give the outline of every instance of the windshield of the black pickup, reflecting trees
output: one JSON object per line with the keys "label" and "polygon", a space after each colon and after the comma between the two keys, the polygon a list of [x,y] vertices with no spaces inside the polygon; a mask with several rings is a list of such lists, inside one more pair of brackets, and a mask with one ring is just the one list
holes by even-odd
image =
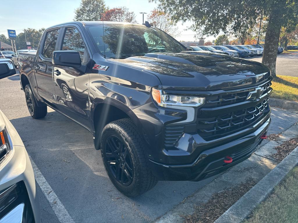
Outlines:
{"label": "windshield of the black pickup, reflecting trees", "polygon": [[[177,40],[154,27],[138,25],[87,25],[98,51],[109,58],[123,59],[147,53],[186,51]],[[103,34],[104,33],[104,34]]]}

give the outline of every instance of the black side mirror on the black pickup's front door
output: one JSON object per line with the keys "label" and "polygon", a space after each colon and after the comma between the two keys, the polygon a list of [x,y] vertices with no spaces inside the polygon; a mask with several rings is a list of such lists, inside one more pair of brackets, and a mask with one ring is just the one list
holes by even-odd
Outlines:
{"label": "black side mirror on the black pickup's front door", "polygon": [[52,56],[52,64],[66,67],[80,67],[81,57],[79,52],[74,50],[54,51]]}

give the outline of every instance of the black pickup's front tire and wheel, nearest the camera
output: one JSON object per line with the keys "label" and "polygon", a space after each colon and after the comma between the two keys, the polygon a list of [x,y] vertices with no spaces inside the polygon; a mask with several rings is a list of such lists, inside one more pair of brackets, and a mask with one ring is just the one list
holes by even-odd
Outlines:
{"label": "black pickup's front tire and wheel, nearest the camera", "polygon": [[100,146],[105,170],[122,194],[136,197],[158,182],[151,173],[145,143],[130,118],[108,123]]}

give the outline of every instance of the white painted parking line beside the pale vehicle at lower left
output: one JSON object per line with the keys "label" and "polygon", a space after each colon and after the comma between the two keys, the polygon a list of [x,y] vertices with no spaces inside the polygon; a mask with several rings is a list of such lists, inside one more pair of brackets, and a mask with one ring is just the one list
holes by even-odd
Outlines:
{"label": "white painted parking line beside the pale vehicle at lower left", "polygon": [[38,186],[40,187],[41,191],[43,192],[46,199],[49,201],[55,215],[57,216],[58,220],[61,223],[75,223],[75,221],[72,219],[72,217],[69,215],[68,211],[62,204],[62,202],[59,200],[55,192],[53,191],[52,187],[49,185],[49,183],[46,181],[46,178],[44,178],[44,175],[40,172],[38,167],[36,166],[33,159],[29,156],[31,160],[31,164],[33,167],[35,180],[38,183]]}

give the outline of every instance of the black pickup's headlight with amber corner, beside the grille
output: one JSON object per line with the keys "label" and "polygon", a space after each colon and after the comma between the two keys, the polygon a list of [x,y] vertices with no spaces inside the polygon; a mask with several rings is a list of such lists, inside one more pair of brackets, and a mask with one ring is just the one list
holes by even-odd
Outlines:
{"label": "black pickup's headlight with amber corner, beside the grille", "polygon": [[167,95],[161,89],[152,88],[151,95],[153,100],[162,107],[181,106],[198,107],[204,104],[205,98],[193,96]]}

